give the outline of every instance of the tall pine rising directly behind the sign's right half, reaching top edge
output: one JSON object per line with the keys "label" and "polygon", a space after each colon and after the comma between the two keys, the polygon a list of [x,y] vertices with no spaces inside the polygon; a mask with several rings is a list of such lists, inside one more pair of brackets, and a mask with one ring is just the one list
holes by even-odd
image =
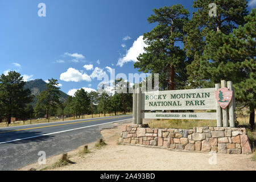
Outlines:
{"label": "tall pine rising directly behind the sign's right half, reaching top edge", "polygon": [[[217,5],[217,16],[209,16],[209,4]],[[184,26],[187,31],[184,49],[188,59],[187,66],[190,88],[214,86],[214,82],[225,79],[225,75],[216,75],[212,67],[220,65],[223,60],[216,57],[217,48],[222,46],[220,35],[228,35],[233,28],[243,25],[247,15],[246,0],[196,0],[193,7],[197,9],[192,19]],[[222,34],[220,34],[222,33]],[[212,60],[216,61],[212,63]],[[216,77],[217,76],[217,77]],[[209,82],[210,81],[210,82]]]}

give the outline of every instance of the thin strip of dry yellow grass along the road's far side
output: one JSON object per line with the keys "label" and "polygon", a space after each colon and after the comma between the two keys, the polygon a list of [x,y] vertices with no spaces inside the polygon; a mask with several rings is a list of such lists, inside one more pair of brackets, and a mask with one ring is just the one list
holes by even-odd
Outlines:
{"label": "thin strip of dry yellow grass along the road's far side", "polygon": [[[131,114],[131,113],[126,113],[126,114]],[[114,115],[115,115],[114,113],[106,114],[106,117],[114,116]],[[118,115],[123,115],[123,113],[120,113]],[[92,117],[92,114],[84,115],[84,116],[85,116],[84,119],[99,118],[98,114],[93,114],[93,117]],[[104,117],[104,114],[100,114],[100,117]],[[64,118],[64,121],[70,121],[70,120],[73,120],[73,119],[74,119],[73,117]],[[82,119],[82,118],[81,117],[80,118],[75,117],[75,120],[78,120],[78,119]],[[63,119],[62,118],[57,119],[57,118],[54,118],[54,117],[50,118],[50,122],[58,122],[58,121],[63,121]],[[48,123],[48,119],[46,119],[46,118],[32,119],[32,121],[31,121],[31,125],[40,124],[40,123]],[[11,127],[11,126],[22,126],[22,125],[30,125],[30,120],[27,120],[24,123],[23,123],[23,121],[11,122],[9,127]],[[1,122],[0,127],[7,127],[6,122]]]}

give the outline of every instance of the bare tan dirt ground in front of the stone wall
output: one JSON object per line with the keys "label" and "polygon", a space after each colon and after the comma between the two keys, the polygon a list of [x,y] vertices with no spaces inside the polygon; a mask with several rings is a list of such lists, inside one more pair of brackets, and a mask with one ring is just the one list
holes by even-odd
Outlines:
{"label": "bare tan dirt ground in front of the stone wall", "polygon": [[[122,126],[102,130],[107,145],[97,149],[89,143],[91,151],[79,155],[82,147],[68,152],[69,160],[75,164],[48,170],[256,170],[252,155],[245,154],[209,154],[208,152],[171,151],[162,148],[150,148],[118,144]],[[60,155],[47,159],[46,165],[31,164],[18,170],[37,170],[51,166],[60,159]],[[216,160],[215,160],[216,159]],[[210,163],[209,163],[210,162]]]}

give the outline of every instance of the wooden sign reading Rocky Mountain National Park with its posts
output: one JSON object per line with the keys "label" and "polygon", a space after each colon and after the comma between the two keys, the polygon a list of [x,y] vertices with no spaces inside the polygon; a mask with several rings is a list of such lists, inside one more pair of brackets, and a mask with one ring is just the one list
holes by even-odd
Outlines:
{"label": "wooden sign reading Rocky Mountain National Park with its posts", "polygon": [[[168,90],[133,93],[133,123],[142,124],[142,119],[216,119],[217,127],[235,127],[236,115],[232,82],[221,80],[215,88]],[[151,110],[216,110],[216,113],[151,113]],[[229,110],[229,111],[228,111]],[[229,113],[229,114],[228,114]],[[223,123],[223,124],[222,124]]]}

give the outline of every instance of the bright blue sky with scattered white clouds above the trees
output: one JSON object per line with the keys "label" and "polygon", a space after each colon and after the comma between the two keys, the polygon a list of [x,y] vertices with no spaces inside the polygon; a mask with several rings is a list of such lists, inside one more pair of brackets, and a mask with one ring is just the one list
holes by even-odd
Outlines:
{"label": "bright blue sky with scattered white clouds above the trees", "polygon": [[[46,16],[38,16],[45,3]],[[56,78],[63,92],[97,89],[102,79],[138,73],[135,57],[152,9],[192,1],[23,0],[0,1],[0,73],[20,72],[25,80]],[[255,7],[255,0],[251,1]]]}

